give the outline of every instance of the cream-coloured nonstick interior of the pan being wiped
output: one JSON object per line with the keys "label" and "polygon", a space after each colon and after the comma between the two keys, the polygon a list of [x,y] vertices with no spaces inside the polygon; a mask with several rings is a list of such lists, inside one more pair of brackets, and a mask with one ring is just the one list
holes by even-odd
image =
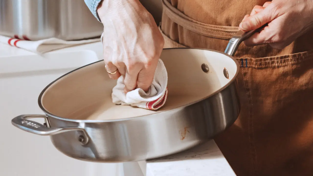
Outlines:
{"label": "cream-coloured nonstick interior of the pan being wiped", "polygon": [[[165,49],[161,59],[168,72],[168,97],[157,111],[112,103],[111,80],[103,61],[85,66],[52,83],[41,97],[43,108],[54,116],[80,120],[114,120],[167,111],[202,100],[221,90],[236,75],[238,66],[225,54],[204,49]],[[201,65],[208,65],[203,71]],[[224,75],[228,71],[228,78]]]}

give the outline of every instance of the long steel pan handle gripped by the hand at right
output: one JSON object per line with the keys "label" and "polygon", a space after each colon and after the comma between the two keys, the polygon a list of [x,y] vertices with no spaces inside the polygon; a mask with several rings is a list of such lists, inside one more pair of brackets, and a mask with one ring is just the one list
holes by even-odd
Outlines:
{"label": "long steel pan handle gripped by the hand at right", "polygon": [[238,31],[233,37],[229,40],[228,45],[224,51],[224,53],[234,56],[236,53],[236,50],[238,49],[241,42],[243,42],[245,39],[248,39],[251,37],[255,32],[260,31],[263,29],[267,24],[264,24],[258,29],[254,29],[248,32]]}

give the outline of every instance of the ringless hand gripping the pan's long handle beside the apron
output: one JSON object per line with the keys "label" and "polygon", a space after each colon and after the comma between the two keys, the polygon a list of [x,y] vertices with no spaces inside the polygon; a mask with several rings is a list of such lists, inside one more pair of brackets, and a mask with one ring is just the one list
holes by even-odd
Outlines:
{"label": "ringless hand gripping the pan's long handle beside the apron", "polygon": [[283,49],[313,28],[313,0],[273,0],[255,6],[239,29],[246,32],[268,25],[244,41],[247,46],[270,44]]}

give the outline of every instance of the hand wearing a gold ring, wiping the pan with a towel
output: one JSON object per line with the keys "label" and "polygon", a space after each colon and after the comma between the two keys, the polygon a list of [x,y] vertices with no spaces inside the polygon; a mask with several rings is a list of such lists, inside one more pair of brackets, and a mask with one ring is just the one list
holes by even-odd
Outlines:
{"label": "hand wearing a gold ring, wiping the pan with a towel", "polygon": [[104,26],[103,54],[110,78],[124,76],[125,92],[148,91],[164,39],[139,0],[104,0],[98,7]]}

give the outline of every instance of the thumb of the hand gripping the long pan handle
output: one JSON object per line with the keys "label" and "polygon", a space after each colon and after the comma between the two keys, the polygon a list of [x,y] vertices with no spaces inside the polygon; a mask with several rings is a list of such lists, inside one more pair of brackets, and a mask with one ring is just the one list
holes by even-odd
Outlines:
{"label": "thumb of the hand gripping the long pan handle", "polygon": [[239,29],[246,32],[262,27],[264,24],[272,21],[272,14],[268,9],[264,9],[260,13],[249,16],[239,24]]}

